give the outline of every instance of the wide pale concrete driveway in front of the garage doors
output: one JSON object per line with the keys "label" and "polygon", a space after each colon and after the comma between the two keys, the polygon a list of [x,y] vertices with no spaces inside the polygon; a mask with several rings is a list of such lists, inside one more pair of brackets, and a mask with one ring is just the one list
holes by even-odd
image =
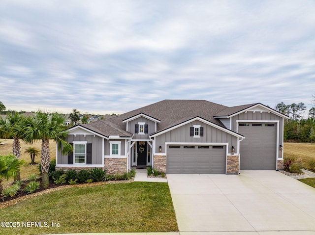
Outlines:
{"label": "wide pale concrete driveway in front of the garage doors", "polygon": [[315,188],[280,172],[167,179],[181,235],[315,234]]}

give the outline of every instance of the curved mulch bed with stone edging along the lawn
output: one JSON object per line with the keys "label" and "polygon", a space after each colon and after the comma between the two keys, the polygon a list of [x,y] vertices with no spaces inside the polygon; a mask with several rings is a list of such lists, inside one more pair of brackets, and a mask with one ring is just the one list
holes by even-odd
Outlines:
{"label": "curved mulch bed with stone edging along the lawn", "polygon": [[53,182],[49,182],[49,187],[42,189],[39,188],[37,189],[34,193],[32,194],[27,194],[24,191],[19,191],[14,197],[5,197],[3,198],[4,201],[0,202],[0,209],[5,208],[5,207],[9,207],[12,205],[16,205],[21,201],[24,201],[26,199],[29,198],[33,198],[39,195],[43,195],[46,193],[50,193],[50,192],[54,192],[54,191],[59,191],[65,188],[70,188],[70,187],[91,187],[91,186],[96,186],[96,185],[101,185],[101,184],[111,184],[111,183],[132,183],[134,180],[134,177],[130,180],[126,180],[126,181],[101,181],[101,182],[95,182],[95,183],[80,183],[80,184],[74,184],[74,185],[70,185],[70,184],[55,184]]}

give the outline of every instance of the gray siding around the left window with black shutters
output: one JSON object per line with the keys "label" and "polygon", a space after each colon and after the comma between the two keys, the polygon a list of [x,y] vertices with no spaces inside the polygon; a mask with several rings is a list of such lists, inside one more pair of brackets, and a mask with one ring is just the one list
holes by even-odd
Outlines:
{"label": "gray siding around the left window with black shutters", "polygon": [[[82,134],[77,134],[76,137],[73,134],[69,134],[67,136],[67,140],[68,143],[72,143],[72,141],[88,141],[88,143],[92,143],[92,164],[94,165],[101,165],[103,160],[103,156],[102,156],[102,138],[98,137],[98,136],[93,136],[93,135],[86,135],[86,137],[84,137],[84,135]],[[57,164],[68,164],[68,156],[66,155],[62,155],[60,151],[58,151],[58,162]]]}

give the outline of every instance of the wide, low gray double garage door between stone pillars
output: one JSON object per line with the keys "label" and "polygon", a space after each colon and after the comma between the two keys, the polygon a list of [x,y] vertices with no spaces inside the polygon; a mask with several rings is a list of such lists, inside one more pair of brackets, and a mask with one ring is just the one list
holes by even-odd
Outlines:
{"label": "wide, low gray double garage door between stone pillars", "polygon": [[168,145],[167,174],[225,174],[225,145]]}

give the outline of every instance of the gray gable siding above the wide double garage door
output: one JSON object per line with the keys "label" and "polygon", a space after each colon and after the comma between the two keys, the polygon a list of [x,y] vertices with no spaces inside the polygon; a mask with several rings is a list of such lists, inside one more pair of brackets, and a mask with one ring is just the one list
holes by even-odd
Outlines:
{"label": "gray gable siding above the wide double garage door", "polygon": [[[203,127],[203,136],[200,138],[194,138],[190,136],[190,127],[193,125],[200,125]],[[184,126],[178,127],[172,131],[168,131],[156,138],[156,153],[158,153],[158,147],[162,146],[162,153],[165,153],[165,142],[178,142],[178,143],[229,143],[230,146],[235,147],[237,152],[237,137],[227,132],[221,131],[215,127],[207,125],[201,121],[194,121]]]}

